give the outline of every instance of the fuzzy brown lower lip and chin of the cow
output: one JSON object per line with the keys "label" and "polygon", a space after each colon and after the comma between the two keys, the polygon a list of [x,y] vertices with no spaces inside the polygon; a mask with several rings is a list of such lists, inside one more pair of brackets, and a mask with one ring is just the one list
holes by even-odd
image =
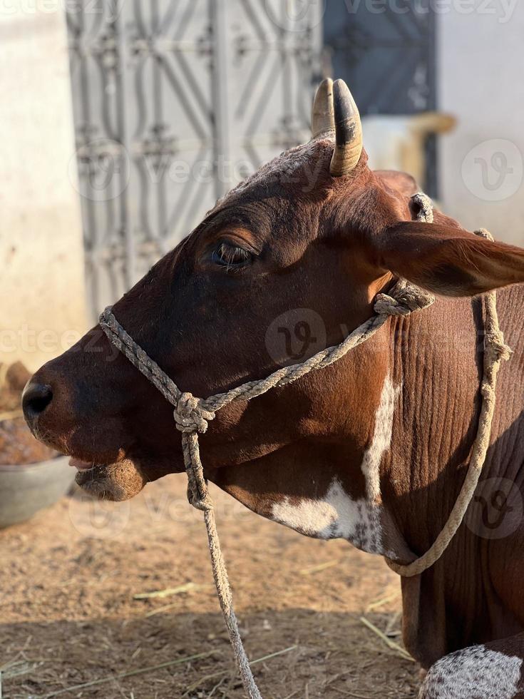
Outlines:
{"label": "fuzzy brown lower lip and chin of the cow", "polygon": [[76,484],[101,500],[129,500],[147,482],[140,466],[131,459],[116,461],[114,464],[97,464],[72,457],[69,464],[78,471]]}

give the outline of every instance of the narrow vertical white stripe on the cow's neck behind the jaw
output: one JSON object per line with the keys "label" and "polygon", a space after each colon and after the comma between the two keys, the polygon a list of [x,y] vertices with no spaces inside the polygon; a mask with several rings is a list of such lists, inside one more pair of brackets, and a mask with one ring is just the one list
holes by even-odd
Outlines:
{"label": "narrow vertical white stripe on the cow's neck behind the jaw", "polygon": [[386,379],[384,379],[379,407],[375,414],[373,439],[364,453],[364,459],[362,459],[361,469],[366,479],[367,496],[369,501],[376,505],[380,505],[382,501],[380,492],[380,464],[382,462],[382,457],[391,446],[395,403],[400,389],[401,386],[394,387],[388,374]]}

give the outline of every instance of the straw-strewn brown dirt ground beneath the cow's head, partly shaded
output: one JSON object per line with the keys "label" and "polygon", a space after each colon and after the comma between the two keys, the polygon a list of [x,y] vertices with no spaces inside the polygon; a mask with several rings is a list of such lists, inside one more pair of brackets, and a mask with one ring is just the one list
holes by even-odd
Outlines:
{"label": "straw-strewn brown dirt ground beneath the cow's head, partly shaded", "polygon": [[[399,582],[383,561],[212,496],[264,699],[416,697],[416,663],[361,621],[401,643]],[[128,503],[76,491],[0,531],[0,551],[4,699],[244,696],[184,476]]]}

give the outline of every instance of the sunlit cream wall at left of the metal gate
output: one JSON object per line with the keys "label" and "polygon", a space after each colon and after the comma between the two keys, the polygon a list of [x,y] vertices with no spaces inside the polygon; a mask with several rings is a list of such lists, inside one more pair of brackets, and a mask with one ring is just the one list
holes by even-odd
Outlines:
{"label": "sunlit cream wall at left of the metal gate", "polygon": [[61,3],[0,10],[0,362],[36,369],[86,329]]}

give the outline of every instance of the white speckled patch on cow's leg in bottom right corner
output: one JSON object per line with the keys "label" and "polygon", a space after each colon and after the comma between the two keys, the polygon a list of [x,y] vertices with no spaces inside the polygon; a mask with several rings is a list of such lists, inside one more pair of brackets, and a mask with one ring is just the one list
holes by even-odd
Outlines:
{"label": "white speckled patch on cow's leg in bottom right corner", "polygon": [[522,664],[522,658],[486,646],[457,650],[431,666],[419,699],[513,699]]}

